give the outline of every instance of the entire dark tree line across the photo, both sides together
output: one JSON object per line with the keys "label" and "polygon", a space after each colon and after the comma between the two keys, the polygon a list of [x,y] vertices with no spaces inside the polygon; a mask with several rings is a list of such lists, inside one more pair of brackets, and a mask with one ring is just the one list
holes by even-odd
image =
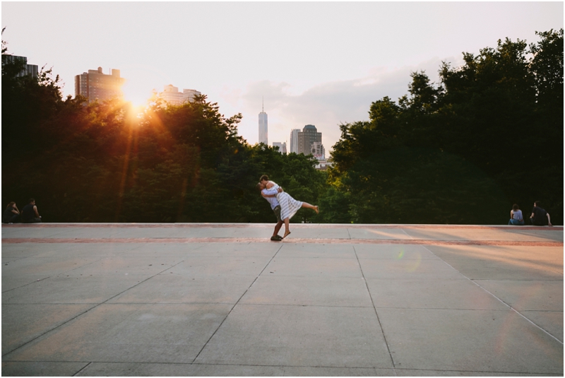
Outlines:
{"label": "entire dark tree line across the photo, both sides together", "polygon": [[144,110],[114,99],[63,98],[42,69],[18,76],[2,42],[2,200],[34,197],[47,222],[274,222],[255,189],[269,175],[318,204],[292,221],[506,224],[513,203],[541,200],[562,224],[563,30],[504,40],[412,73],[408,95],[341,124],[334,166],[250,145],[242,115],[206,95]]}

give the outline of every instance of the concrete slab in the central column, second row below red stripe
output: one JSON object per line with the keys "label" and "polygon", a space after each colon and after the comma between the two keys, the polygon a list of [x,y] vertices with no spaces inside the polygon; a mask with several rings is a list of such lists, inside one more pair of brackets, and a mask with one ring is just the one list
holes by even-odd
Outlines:
{"label": "concrete slab in the central column, second row below red stripe", "polygon": [[275,257],[273,261],[270,261],[263,274],[297,277],[362,277],[356,259],[315,257]]}

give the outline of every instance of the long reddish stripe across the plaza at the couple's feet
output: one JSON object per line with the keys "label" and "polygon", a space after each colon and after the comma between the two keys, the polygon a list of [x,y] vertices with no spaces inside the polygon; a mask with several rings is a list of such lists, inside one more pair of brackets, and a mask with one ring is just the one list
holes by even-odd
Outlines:
{"label": "long reddish stripe across the plaza at the couple's feet", "polygon": [[[2,244],[18,243],[263,243],[268,239],[254,237],[187,237],[187,238],[56,238],[56,237],[10,237]],[[317,244],[429,244],[429,245],[507,245],[535,247],[563,247],[563,242],[533,242],[513,240],[398,240],[398,239],[287,239],[283,243]]]}

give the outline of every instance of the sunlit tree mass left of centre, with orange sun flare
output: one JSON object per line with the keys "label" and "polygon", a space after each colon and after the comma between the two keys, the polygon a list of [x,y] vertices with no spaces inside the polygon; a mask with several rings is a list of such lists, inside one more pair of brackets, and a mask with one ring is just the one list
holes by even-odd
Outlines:
{"label": "sunlit tree mass left of centre, with orange sun flare", "polygon": [[[3,45],[2,54],[7,54]],[[2,64],[2,201],[30,197],[47,222],[268,222],[255,189],[268,174],[295,198],[315,202],[326,176],[311,157],[283,155],[237,136],[241,115],[223,117],[197,97],[145,110],[110,100],[61,98],[59,78],[18,77]],[[299,211],[294,222],[314,212]]]}

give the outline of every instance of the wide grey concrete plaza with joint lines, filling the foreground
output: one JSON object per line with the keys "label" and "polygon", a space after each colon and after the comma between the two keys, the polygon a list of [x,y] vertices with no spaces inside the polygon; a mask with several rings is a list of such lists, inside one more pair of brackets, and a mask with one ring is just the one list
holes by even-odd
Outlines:
{"label": "wide grey concrete plaza with joint lines, filling the foreground", "polygon": [[564,374],[563,228],[2,225],[4,376]]}

